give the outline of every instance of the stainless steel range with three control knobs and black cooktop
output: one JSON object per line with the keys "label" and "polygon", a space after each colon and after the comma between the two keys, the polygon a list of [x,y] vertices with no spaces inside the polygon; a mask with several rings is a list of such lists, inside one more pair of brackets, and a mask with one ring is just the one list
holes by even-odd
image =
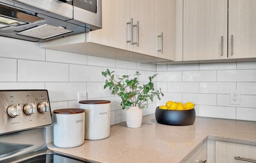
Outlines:
{"label": "stainless steel range with three control knobs and black cooktop", "polygon": [[89,163],[47,148],[52,123],[47,90],[1,90],[0,163]]}

